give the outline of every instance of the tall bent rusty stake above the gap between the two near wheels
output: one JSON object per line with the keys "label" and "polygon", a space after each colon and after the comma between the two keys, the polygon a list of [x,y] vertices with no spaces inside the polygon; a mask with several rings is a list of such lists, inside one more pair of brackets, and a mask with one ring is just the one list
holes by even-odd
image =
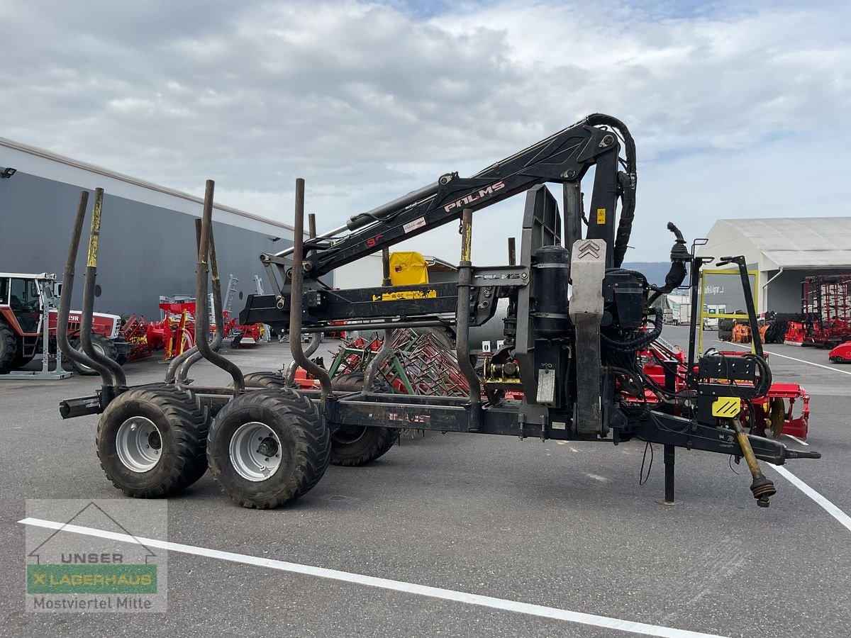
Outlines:
{"label": "tall bent rusty stake above the gap between the two near wheels", "polygon": [[215,352],[208,342],[210,333],[210,310],[208,305],[208,254],[210,253],[210,238],[213,233],[213,193],[215,182],[207,180],[204,191],[204,208],[201,222],[201,244],[198,250],[198,264],[195,273],[195,345],[198,352],[210,363],[220,367],[233,379],[233,394],[239,396],[245,391],[243,371],[236,363],[228,361],[224,356]]}

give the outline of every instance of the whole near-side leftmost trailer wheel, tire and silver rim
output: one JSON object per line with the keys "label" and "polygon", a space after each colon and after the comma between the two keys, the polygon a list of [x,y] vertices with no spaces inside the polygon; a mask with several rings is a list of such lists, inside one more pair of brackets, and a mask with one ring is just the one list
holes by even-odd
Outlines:
{"label": "whole near-side leftmost trailer wheel, tire and silver rim", "polygon": [[207,471],[207,430],[206,413],[185,392],[127,390],[100,417],[100,467],[128,496],[171,496]]}

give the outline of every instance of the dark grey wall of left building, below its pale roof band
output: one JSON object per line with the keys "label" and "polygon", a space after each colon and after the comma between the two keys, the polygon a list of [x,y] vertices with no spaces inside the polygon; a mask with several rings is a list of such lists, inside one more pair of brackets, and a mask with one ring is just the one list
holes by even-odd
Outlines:
{"label": "dark grey wall of left building, below its pale roof band", "polygon": [[[79,195],[77,186],[20,171],[10,179],[0,179],[0,271],[54,272],[61,278]],[[88,236],[93,200],[94,192],[89,195],[84,237]],[[221,223],[214,223],[214,235],[222,286],[226,287],[227,276],[233,274],[245,296],[254,293],[253,276],[260,275],[266,293],[271,292],[257,257],[288,248],[290,237],[272,242],[266,234]],[[158,317],[161,294],[194,294],[197,253],[191,215],[107,192],[100,237],[101,293],[94,310]],[[81,246],[74,307],[80,303],[85,255],[86,248]],[[235,300],[232,310],[242,310],[242,302]]]}

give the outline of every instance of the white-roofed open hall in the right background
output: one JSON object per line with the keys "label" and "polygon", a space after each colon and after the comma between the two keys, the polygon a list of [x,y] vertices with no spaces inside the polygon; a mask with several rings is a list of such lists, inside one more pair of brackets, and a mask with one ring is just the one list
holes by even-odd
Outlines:
{"label": "white-roofed open hall in the right background", "polygon": [[[758,271],[757,312],[800,312],[804,276],[851,272],[851,217],[718,219],[707,238],[699,255],[745,255]],[[705,305],[736,310],[728,299],[724,286],[705,286]]]}

